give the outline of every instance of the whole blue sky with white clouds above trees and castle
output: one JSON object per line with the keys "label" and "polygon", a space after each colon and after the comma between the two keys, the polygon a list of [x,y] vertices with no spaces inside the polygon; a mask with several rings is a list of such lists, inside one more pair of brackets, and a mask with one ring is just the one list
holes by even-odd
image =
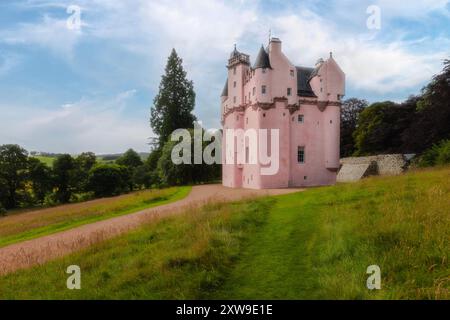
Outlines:
{"label": "whole blue sky with white clouds above trees and castle", "polygon": [[194,82],[195,115],[219,128],[234,44],[254,61],[269,31],[296,65],[332,51],[346,98],[401,102],[450,58],[450,2],[0,0],[0,145],[148,151],[172,48]]}

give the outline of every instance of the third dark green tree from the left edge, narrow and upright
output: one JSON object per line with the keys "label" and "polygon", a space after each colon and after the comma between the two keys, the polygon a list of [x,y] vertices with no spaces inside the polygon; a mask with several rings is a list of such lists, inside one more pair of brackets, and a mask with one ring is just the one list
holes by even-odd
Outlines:
{"label": "third dark green tree from the left edge, narrow and upright", "polygon": [[56,187],[56,199],[61,203],[70,201],[72,193],[76,190],[75,160],[70,154],[63,154],[53,162],[53,175]]}

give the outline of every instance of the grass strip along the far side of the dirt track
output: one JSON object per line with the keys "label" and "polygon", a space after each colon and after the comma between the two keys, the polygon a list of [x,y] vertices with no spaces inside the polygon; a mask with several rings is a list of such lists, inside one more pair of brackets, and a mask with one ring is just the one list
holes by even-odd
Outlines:
{"label": "grass strip along the far side of the dirt track", "polygon": [[0,218],[0,247],[168,204],[190,191],[191,187],[150,189]]}

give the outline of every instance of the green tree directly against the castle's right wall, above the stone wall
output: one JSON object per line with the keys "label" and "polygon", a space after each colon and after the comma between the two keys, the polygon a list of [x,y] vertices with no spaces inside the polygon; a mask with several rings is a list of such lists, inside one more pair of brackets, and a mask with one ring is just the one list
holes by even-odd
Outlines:
{"label": "green tree directly against the castle's right wall, above the stone wall", "polygon": [[350,98],[342,103],[341,108],[341,157],[348,157],[355,152],[353,132],[358,124],[359,114],[368,106],[366,100]]}

